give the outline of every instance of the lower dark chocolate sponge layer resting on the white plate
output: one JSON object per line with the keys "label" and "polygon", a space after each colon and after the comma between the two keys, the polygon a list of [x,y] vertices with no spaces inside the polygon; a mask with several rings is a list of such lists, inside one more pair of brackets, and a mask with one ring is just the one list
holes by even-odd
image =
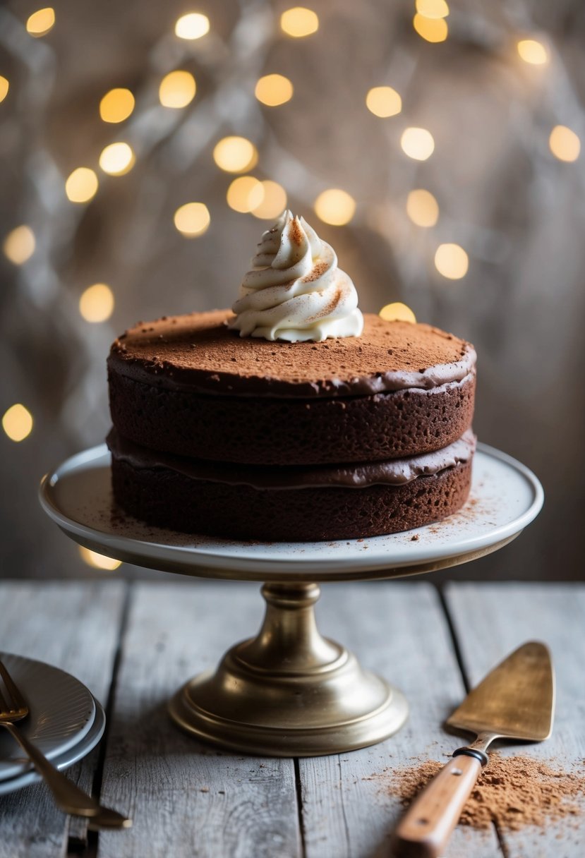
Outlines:
{"label": "lower dark chocolate sponge layer resting on the white plate", "polygon": [[148,450],[142,464],[140,448],[133,445],[132,456],[121,456],[115,440],[108,438],[118,505],[149,524],[184,533],[262,541],[379,536],[451,515],[471,486],[473,450],[436,474],[399,485],[259,488],[194,478],[160,463],[153,467]]}

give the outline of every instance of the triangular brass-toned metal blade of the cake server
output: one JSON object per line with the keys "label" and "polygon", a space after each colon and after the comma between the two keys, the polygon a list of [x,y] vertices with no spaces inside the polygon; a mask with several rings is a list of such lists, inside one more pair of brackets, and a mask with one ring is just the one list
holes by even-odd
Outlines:
{"label": "triangular brass-toned metal blade of the cake server", "polygon": [[493,668],[447,723],[475,734],[542,741],[552,732],[554,698],[550,651],[530,641]]}

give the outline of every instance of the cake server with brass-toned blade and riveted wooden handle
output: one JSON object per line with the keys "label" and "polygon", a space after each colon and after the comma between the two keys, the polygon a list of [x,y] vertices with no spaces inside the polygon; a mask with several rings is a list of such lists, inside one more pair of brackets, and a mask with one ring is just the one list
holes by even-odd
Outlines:
{"label": "cake server with brass-toned blade and riveted wooden handle", "polygon": [[542,741],[552,732],[554,674],[545,644],[523,644],[469,692],[447,724],[477,736],[457,748],[398,825],[397,858],[437,858],[455,828],[494,739]]}

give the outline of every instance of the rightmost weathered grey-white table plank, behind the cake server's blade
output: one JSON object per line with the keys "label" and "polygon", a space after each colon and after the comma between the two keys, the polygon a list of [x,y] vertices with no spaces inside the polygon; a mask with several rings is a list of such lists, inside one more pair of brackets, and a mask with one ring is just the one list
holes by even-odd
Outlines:
{"label": "rightmost weathered grey-white table plank, behind the cake server's blade", "polygon": [[[578,584],[452,583],[446,589],[468,679],[485,674],[528,640],[552,650],[557,706],[552,738],[534,745],[506,745],[507,754],[552,759],[559,769],[585,759],[585,586]],[[582,817],[569,824],[504,832],[510,858],[582,858],[585,854],[585,801]]]}

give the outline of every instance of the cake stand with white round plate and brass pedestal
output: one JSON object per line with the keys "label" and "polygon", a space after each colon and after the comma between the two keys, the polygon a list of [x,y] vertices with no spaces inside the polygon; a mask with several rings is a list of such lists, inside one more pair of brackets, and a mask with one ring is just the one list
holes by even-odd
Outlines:
{"label": "cake stand with white round plate and brass pedestal", "polygon": [[407,701],[317,631],[317,582],[414,575],[467,563],[519,535],[540,511],[539,480],[520,462],[479,444],[467,505],[443,522],[373,539],[260,543],[178,534],[125,516],[112,500],[106,445],[73,456],[40,486],[44,510],[66,535],[136,565],[185,575],[268,582],[256,637],[169,703],[192,734],[271,756],[346,752],[386,739]]}

